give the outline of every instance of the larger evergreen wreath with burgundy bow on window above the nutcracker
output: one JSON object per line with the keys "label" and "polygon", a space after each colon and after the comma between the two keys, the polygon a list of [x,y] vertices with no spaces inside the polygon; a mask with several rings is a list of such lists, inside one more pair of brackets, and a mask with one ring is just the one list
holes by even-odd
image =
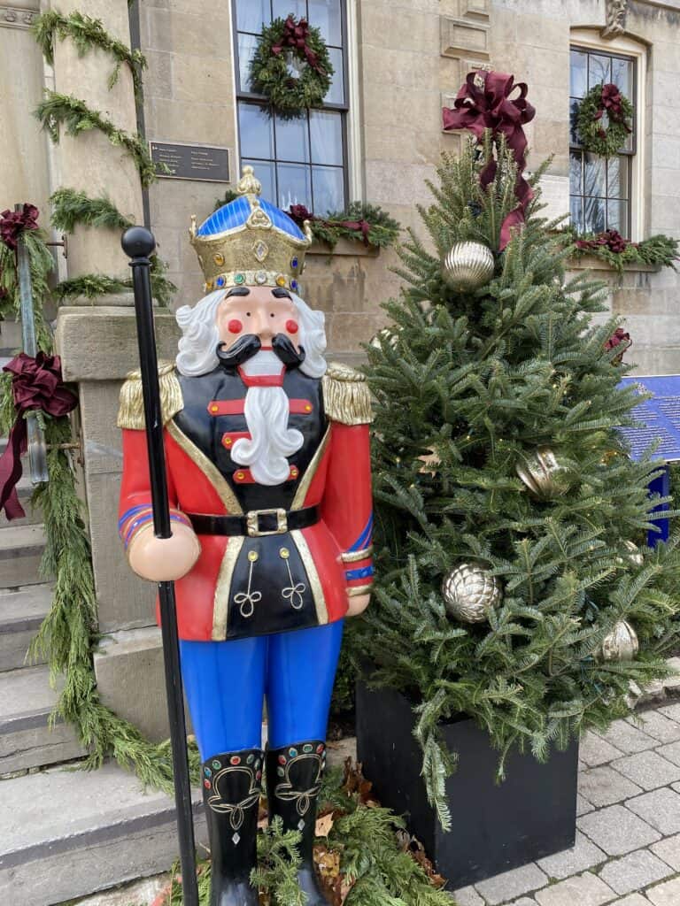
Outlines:
{"label": "larger evergreen wreath with burgundy bow on window above the nutcracker", "polygon": [[[288,64],[300,68],[297,78]],[[320,107],[334,73],[328,48],[318,28],[306,19],[275,19],[262,29],[250,63],[253,91],[264,94],[275,110],[295,116],[310,107]]]}

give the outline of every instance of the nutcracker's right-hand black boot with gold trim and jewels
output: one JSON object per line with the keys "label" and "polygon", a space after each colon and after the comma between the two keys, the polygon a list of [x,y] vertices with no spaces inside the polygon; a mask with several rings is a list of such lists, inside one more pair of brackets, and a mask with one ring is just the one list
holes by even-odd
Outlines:
{"label": "nutcracker's right-hand black boot with gold trim and jewels", "polygon": [[302,835],[302,864],[297,881],[307,894],[306,906],[327,906],[328,902],[314,867],[316,800],[324,767],[325,743],[319,739],[267,751],[269,822],[278,815],[283,819],[284,830],[296,830]]}

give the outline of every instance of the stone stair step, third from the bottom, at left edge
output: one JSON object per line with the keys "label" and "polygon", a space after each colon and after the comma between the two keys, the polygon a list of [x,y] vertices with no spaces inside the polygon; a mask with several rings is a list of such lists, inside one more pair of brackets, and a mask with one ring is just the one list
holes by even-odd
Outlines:
{"label": "stone stair step, third from the bottom, at left edge", "polygon": [[0,591],[0,672],[24,667],[28,646],[51,605],[52,586],[47,584]]}

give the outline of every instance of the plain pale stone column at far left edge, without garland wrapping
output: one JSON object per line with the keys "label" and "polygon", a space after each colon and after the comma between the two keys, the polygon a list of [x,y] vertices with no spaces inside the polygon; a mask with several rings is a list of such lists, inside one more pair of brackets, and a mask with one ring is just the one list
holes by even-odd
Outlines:
{"label": "plain pale stone column at far left edge, without garland wrapping", "polygon": [[39,0],[0,3],[0,210],[29,201],[39,207],[46,226],[47,137],[31,116],[43,98],[43,57],[29,32],[39,6]]}

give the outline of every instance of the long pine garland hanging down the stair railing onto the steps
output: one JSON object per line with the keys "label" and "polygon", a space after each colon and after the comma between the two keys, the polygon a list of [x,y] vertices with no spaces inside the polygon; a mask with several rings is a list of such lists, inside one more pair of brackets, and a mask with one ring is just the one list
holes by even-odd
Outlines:
{"label": "long pine garland hanging down the stair railing onto the steps", "polygon": [[[49,293],[47,279],[53,269],[53,257],[40,230],[24,233],[24,242],[30,257],[37,344],[44,352],[52,352],[53,337],[44,319],[43,302]],[[0,296],[0,315],[17,318],[20,299],[15,255],[3,245],[0,286],[5,291]],[[5,434],[15,419],[9,379],[10,375],[3,373],[0,383],[0,431]],[[35,489],[31,502],[43,513],[46,543],[41,574],[45,581],[54,583],[54,593],[50,612],[31,643],[29,659],[44,657],[53,680],[63,675],[63,690],[52,719],[61,717],[73,724],[88,752],[88,768],[101,766],[104,757],[112,755],[143,783],[171,794],[174,786],[169,742],[150,743],[99,699],[92,664],[98,632],[90,540],[77,494],[73,453],[63,448],[63,444],[73,443],[73,432],[67,417],[52,419],[43,415],[43,419],[50,480]],[[189,746],[189,763],[192,776],[199,782],[195,743]]]}

